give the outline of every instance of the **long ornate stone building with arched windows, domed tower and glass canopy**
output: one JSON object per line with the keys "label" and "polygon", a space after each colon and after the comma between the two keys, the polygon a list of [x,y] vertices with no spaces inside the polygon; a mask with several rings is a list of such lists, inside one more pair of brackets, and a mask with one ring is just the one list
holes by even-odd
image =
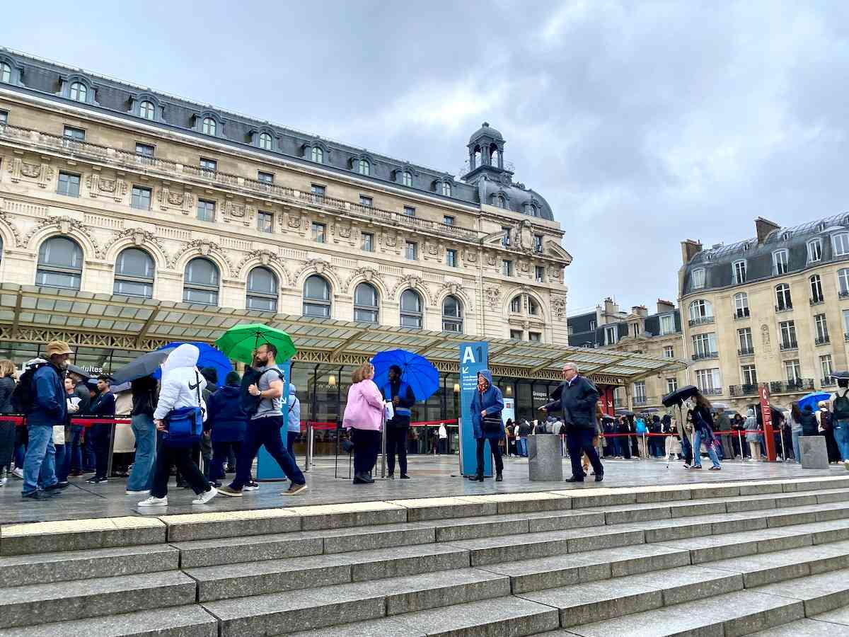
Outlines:
{"label": "long ornate stone building with arched windows, domed tower and glass canopy", "polygon": [[109,371],[265,323],[295,339],[315,420],[394,347],[443,376],[418,420],[455,416],[463,341],[489,341],[521,417],[566,358],[611,387],[668,365],[568,346],[564,230],[494,127],[460,152],[456,178],[0,49],[0,356],[61,338]]}

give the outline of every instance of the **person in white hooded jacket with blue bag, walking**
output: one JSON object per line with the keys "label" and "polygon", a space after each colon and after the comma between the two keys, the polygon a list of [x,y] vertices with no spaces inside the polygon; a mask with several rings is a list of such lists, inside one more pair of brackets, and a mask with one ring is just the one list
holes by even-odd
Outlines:
{"label": "person in white hooded jacket with blue bag, walking", "polygon": [[168,429],[166,418],[172,410],[183,407],[205,409],[201,395],[206,380],[197,369],[199,355],[197,347],[184,343],[171,352],[162,365],[160,396],[154,412],[154,423],[159,432],[156,471],[150,497],[139,502],[139,506],[168,505],[168,478],[171,476],[172,464],[177,465],[183,478],[199,496],[192,500],[193,505],[205,505],[218,493],[210,486],[198,465],[194,464],[191,446],[176,447],[162,440],[162,433]]}

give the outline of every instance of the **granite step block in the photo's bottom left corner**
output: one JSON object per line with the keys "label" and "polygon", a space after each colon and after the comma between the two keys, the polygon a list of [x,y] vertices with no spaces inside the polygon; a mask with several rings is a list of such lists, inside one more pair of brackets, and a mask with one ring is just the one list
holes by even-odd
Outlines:
{"label": "granite step block in the photo's bottom left corner", "polygon": [[[48,610],[49,612],[49,610]],[[0,629],[2,637],[218,637],[218,620],[203,608],[172,606],[67,622]]]}

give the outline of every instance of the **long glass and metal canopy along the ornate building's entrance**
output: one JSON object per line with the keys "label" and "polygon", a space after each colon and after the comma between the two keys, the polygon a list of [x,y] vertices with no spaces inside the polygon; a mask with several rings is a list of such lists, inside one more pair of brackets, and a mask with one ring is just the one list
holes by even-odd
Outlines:
{"label": "long glass and metal canopy along the ornate building's entrance", "polygon": [[[59,338],[78,346],[149,351],[171,341],[212,342],[245,323],[287,331],[298,347],[295,361],[315,364],[362,364],[377,352],[402,348],[426,352],[438,369],[457,373],[459,345],[475,340],[453,332],[0,284],[0,339],[7,341]],[[486,341],[493,373],[513,378],[556,380],[568,360],[597,382],[621,386],[686,366],[676,359],[630,352],[504,338]]]}

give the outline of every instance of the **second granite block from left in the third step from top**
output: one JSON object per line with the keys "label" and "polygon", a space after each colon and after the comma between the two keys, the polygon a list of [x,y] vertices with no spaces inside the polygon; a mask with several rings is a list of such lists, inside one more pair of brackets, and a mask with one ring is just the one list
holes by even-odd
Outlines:
{"label": "second granite block from left in the third step from top", "polygon": [[213,601],[468,567],[468,551],[424,544],[194,568],[185,572],[198,582],[198,600]]}

